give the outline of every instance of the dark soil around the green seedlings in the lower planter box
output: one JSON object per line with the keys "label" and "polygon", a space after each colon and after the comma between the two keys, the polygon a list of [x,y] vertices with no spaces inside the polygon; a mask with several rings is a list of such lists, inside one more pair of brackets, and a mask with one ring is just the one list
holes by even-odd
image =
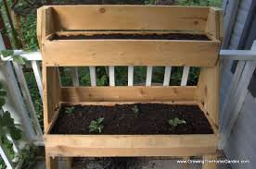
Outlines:
{"label": "dark soil around the green seedlings in the lower planter box", "polygon": [[[139,115],[132,108],[137,105]],[[100,134],[212,134],[212,128],[198,105],[161,103],[116,104],[114,106],[75,105],[71,114],[62,106],[52,134],[95,134],[89,132],[92,120],[104,117]],[[186,124],[171,127],[169,119],[178,117]]]}

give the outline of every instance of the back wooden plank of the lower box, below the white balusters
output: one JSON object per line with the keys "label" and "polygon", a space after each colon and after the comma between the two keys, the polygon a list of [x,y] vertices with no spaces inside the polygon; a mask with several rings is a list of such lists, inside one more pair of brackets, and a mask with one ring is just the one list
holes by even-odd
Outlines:
{"label": "back wooden plank of the lower box, below the white balusters", "polygon": [[197,87],[79,87],[61,88],[60,102],[194,101]]}

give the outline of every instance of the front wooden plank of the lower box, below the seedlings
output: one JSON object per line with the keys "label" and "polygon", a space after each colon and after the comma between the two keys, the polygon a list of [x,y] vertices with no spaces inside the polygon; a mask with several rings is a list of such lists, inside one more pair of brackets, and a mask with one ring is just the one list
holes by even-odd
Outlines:
{"label": "front wooden plank of the lower box, below the seedlings", "polygon": [[205,135],[50,135],[46,155],[69,157],[190,156],[214,154],[217,136]]}

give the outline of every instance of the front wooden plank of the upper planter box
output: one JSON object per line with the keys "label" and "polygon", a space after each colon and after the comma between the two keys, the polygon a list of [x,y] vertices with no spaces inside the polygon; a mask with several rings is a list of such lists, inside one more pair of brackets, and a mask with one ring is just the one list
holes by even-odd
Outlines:
{"label": "front wooden plank of the upper planter box", "polygon": [[219,47],[219,41],[45,41],[43,59],[45,66],[215,66]]}

